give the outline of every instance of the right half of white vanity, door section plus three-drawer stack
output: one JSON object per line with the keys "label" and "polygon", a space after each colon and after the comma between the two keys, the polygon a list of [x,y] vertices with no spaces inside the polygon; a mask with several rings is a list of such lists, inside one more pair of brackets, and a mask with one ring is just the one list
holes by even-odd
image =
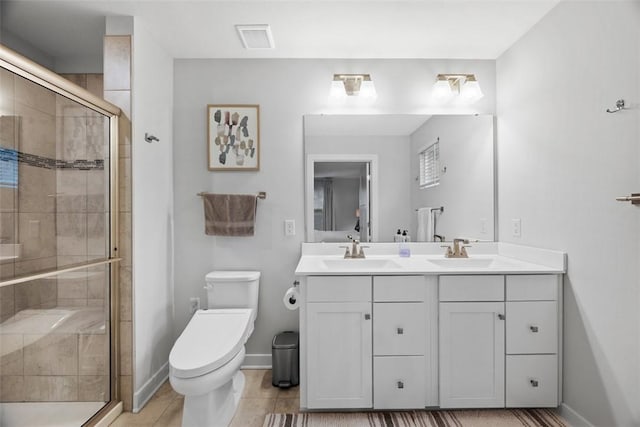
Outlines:
{"label": "right half of white vanity, door section plus three-drawer stack", "polygon": [[560,404],[561,276],[441,276],[440,406]]}

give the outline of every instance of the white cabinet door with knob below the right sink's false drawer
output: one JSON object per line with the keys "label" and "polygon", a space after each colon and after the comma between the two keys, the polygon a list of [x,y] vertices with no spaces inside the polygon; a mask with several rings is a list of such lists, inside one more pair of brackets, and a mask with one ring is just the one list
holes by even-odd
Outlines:
{"label": "white cabinet door with knob below the right sink's false drawer", "polygon": [[504,407],[504,303],[440,304],[440,407]]}

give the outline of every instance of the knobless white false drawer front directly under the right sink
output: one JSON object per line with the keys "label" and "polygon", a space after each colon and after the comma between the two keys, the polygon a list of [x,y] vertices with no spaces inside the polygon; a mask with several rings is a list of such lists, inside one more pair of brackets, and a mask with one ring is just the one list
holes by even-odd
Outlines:
{"label": "knobless white false drawer front directly under the right sink", "polygon": [[504,301],[504,276],[440,276],[440,301]]}

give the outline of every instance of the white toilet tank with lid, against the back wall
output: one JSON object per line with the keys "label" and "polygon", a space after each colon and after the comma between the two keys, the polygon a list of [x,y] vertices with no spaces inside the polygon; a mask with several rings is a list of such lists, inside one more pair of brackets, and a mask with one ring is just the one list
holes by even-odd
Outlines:
{"label": "white toilet tank with lid, against the back wall", "polygon": [[212,271],[205,280],[208,308],[258,311],[259,271]]}

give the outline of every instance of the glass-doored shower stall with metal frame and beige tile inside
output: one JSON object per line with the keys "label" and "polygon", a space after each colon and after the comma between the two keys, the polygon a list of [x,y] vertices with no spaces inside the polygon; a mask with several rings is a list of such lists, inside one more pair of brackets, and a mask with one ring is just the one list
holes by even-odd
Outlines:
{"label": "glass-doored shower stall with metal frame and beige tile inside", "polygon": [[0,46],[2,426],[118,400],[119,114]]}

